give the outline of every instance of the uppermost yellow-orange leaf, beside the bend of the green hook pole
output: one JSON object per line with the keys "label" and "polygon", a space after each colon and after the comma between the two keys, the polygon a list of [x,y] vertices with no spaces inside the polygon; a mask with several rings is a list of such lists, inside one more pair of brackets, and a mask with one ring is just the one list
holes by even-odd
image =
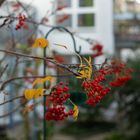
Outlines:
{"label": "uppermost yellow-orange leaf, beside the bend of the green hook pole", "polygon": [[34,42],[34,44],[32,45],[32,47],[34,48],[38,48],[38,47],[41,47],[41,48],[45,48],[49,45],[49,41],[46,39],[46,38],[37,38]]}

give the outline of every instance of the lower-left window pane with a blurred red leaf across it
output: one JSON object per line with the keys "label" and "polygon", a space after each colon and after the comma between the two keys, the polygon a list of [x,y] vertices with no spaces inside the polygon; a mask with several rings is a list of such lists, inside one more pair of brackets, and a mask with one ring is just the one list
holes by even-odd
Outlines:
{"label": "lower-left window pane with a blurred red leaf across it", "polygon": [[57,15],[56,16],[56,25],[71,27],[72,26],[72,16],[71,15]]}

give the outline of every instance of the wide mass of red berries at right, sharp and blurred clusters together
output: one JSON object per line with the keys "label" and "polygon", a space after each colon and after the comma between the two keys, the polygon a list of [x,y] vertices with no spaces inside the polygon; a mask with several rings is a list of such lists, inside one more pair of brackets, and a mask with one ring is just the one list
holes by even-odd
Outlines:
{"label": "wide mass of red berries at right, sharp and blurred clusters together", "polygon": [[[93,80],[85,80],[82,84],[88,97],[86,103],[92,106],[96,105],[111,90],[109,86],[123,86],[130,80],[132,71],[132,69],[126,68],[125,64],[118,60],[112,60],[110,66],[97,70],[94,73]],[[115,80],[108,79],[107,76],[109,75],[115,77]],[[105,82],[109,82],[109,84],[104,86],[103,83]]]}

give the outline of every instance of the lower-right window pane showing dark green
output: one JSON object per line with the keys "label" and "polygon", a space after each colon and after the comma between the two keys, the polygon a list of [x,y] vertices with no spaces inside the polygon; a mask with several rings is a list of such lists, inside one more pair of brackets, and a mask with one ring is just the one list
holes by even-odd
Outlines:
{"label": "lower-right window pane showing dark green", "polygon": [[78,26],[90,27],[95,25],[94,14],[79,14]]}

